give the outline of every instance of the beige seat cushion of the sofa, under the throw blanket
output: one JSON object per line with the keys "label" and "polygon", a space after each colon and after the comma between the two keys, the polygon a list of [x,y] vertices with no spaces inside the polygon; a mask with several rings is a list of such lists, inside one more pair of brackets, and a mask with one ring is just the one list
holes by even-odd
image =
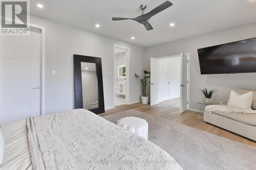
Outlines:
{"label": "beige seat cushion of the sofa, under the throw blanket", "polygon": [[256,114],[248,114],[248,113],[223,113],[220,111],[212,111],[213,114],[218,114],[223,117],[227,117],[238,122],[256,126]]}

